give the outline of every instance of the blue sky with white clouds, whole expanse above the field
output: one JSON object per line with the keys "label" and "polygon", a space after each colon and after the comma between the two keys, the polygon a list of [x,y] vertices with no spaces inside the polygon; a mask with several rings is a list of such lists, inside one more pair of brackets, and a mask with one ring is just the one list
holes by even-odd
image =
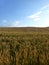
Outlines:
{"label": "blue sky with white clouds, whole expanse above the field", "polygon": [[49,0],[0,0],[0,27],[49,26]]}

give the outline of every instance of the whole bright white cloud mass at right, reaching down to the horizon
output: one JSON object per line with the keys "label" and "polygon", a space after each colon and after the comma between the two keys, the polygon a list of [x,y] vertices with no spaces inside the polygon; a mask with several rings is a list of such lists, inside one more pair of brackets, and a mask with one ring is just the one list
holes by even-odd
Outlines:
{"label": "whole bright white cloud mass at right, reaching down to the horizon", "polygon": [[[31,19],[32,24],[30,26],[34,27],[47,27],[49,26],[49,4],[43,6],[40,11],[27,16],[28,19]],[[38,22],[36,22],[38,21]]]}

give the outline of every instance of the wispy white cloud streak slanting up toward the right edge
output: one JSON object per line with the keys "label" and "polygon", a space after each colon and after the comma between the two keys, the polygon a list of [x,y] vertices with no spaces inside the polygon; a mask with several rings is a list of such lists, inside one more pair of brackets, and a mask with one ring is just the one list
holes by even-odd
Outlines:
{"label": "wispy white cloud streak slanting up toward the right edge", "polygon": [[[40,11],[38,11],[38,12],[32,14],[32,15],[27,16],[27,18],[33,19],[34,21],[39,21],[39,20],[40,20],[40,17],[41,17],[41,14],[43,14],[43,10],[46,9],[47,7],[49,7],[49,4],[43,6],[43,7],[40,9]],[[47,10],[47,12],[49,13],[49,10]]]}

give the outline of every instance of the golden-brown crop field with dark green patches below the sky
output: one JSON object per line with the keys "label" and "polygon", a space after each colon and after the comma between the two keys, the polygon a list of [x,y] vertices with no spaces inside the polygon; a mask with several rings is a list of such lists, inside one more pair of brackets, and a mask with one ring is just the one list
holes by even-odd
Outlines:
{"label": "golden-brown crop field with dark green patches below the sky", "polygon": [[49,65],[49,28],[0,28],[0,65]]}

